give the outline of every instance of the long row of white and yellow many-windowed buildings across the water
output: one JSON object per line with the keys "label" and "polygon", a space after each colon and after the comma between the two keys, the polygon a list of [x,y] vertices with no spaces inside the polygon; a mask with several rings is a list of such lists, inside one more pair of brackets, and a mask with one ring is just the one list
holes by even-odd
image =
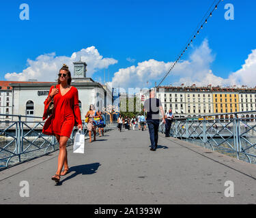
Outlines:
{"label": "long row of white and yellow many-windowed buildings across the water", "polygon": [[[140,97],[143,93],[137,93]],[[207,116],[221,113],[236,113],[238,117],[247,117],[246,112],[256,110],[256,87],[158,87],[156,97],[167,112],[173,110],[175,117]],[[256,118],[256,113],[249,115]],[[221,117],[229,118],[229,115]],[[233,115],[230,115],[233,117]]]}

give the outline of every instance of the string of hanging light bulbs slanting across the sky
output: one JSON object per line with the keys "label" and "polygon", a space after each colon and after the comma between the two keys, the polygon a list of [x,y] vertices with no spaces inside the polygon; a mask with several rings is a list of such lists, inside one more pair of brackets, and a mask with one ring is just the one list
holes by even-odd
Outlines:
{"label": "string of hanging light bulbs slanting across the sky", "polygon": [[178,61],[180,61],[180,59],[182,58],[182,56],[184,55],[184,53],[186,52],[186,50],[188,50],[188,47],[193,43],[193,41],[195,40],[195,38],[197,37],[197,35],[199,35],[201,29],[203,29],[203,26],[205,24],[207,24],[208,19],[210,17],[212,17],[212,13],[217,10],[218,5],[221,3],[221,1],[223,0],[214,0],[214,2],[212,3],[212,5],[209,7],[208,11],[205,13],[205,16],[203,16],[203,18],[201,19],[201,21],[199,22],[199,25],[197,25],[197,28],[195,29],[195,31],[193,31],[193,34],[191,35],[191,37],[189,38],[189,40],[186,42],[186,46],[184,46],[184,48],[182,48],[182,51],[179,53],[180,55],[177,56],[177,59],[173,62],[173,64],[171,65],[170,69],[167,71],[167,73],[165,74],[165,76],[162,78],[162,80],[159,82],[158,87],[160,87],[160,84],[162,84],[162,82],[165,80],[165,78],[167,78],[168,74],[171,72],[171,70],[173,69],[173,67],[175,67],[175,65],[177,64]]}

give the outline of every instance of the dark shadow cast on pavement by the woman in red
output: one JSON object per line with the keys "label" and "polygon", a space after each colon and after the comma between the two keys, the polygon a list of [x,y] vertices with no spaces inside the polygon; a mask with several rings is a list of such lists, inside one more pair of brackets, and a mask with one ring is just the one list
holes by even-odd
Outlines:
{"label": "dark shadow cast on pavement by the woman in red", "polygon": [[[101,166],[100,163],[89,163],[89,164],[84,164],[84,165],[79,165],[79,166],[72,166],[70,168],[70,172],[66,174],[66,178],[63,178],[64,176],[61,176],[63,180],[59,181],[56,185],[62,185],[64,181],[68,181],[71,178],[74,178],[75,176],[82,174],[82,175],[90,175],[94,174],[97,172],[99,166]],[[72,174],[72,172],[74,172]],[[71,174],[71,175],[70,175]]]}

